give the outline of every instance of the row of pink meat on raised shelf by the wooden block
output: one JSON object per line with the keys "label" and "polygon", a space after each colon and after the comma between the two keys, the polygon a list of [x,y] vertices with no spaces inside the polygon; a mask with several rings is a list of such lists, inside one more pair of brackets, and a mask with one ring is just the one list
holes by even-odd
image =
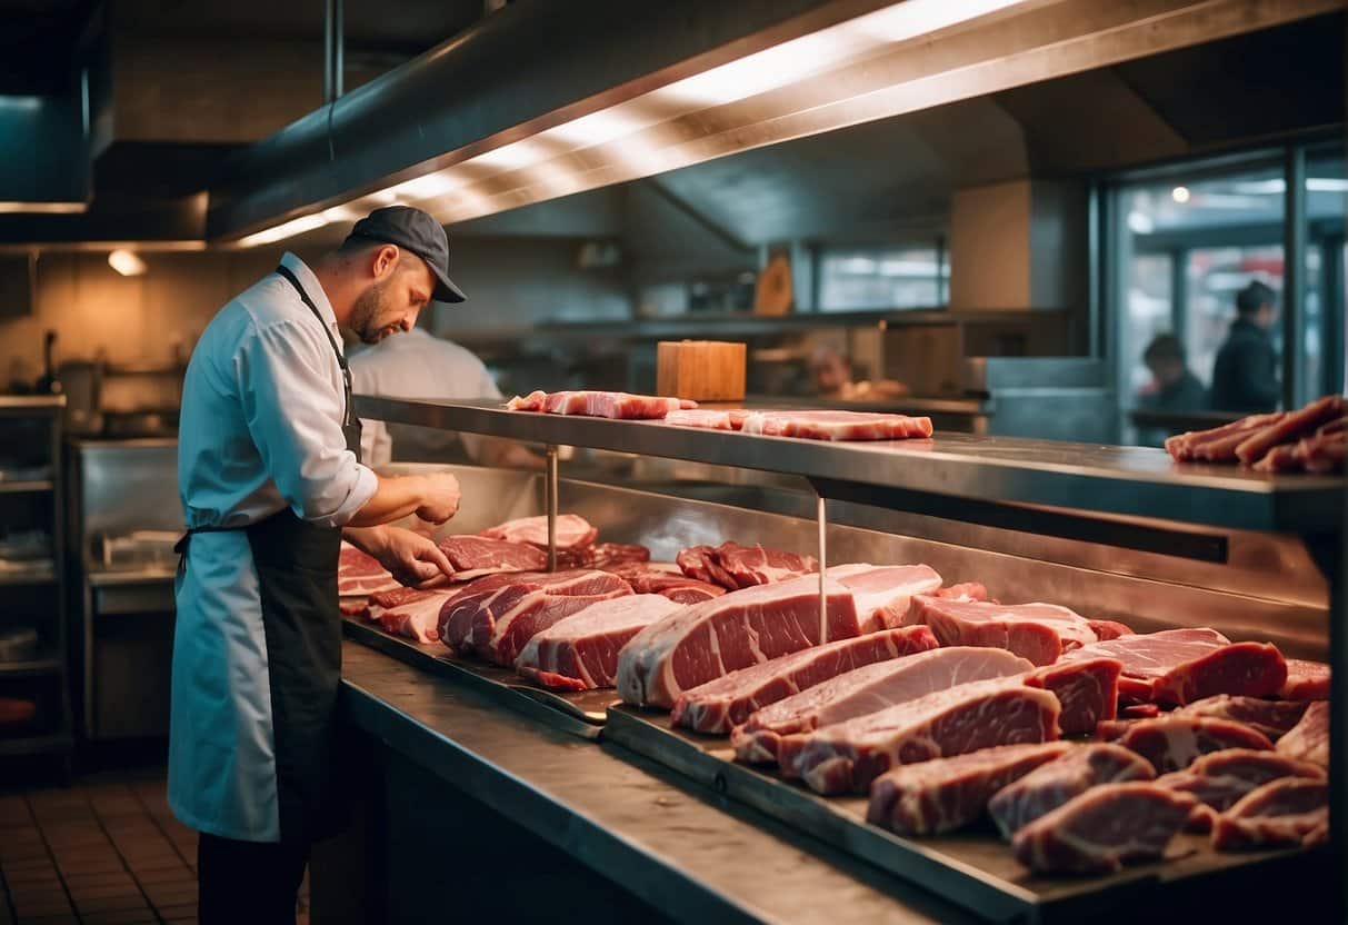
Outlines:
{"label": "row of pink meat on raised shelf by the wooden block", "polygon": [[931,436],[931,419],[875,411],[749,411],[698,409],[697,402],[628,392],[534,391],[516,395],[511,411],[578,414],[592,418],[654,419],[677,427],[740,430],[766,437],[803,440],[907,440]]}

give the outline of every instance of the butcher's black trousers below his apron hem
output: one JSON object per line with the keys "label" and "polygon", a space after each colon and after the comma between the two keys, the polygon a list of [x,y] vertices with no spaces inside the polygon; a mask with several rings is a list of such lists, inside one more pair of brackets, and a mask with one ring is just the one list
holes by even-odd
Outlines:
{"label": "butcher's black trousers below his apron hem", "polygon": [[309,843],[236,841],[201,833],[197,916],[201,925],[294,925]]}

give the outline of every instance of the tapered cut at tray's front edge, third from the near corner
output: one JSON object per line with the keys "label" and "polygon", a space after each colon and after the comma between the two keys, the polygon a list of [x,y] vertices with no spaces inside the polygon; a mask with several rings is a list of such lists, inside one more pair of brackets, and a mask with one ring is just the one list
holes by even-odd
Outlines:
{"label": "tapered cut at tray's front edge, third from the near corner", "polygon": [[899,835],[937,835],[968,825],[988,798],[1072,748],[1066,742],[998,746],[905,765],[875,778],[865,821]]}

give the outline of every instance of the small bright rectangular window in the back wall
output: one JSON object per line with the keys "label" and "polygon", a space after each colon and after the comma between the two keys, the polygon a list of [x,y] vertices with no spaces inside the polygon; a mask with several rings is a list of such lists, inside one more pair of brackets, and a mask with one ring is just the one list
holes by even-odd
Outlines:
{"label": "small bright rectangular window in the back wall", "polygon": [[820,253],[820,311],[931,309],[945,305],[945,248],[836,248]]}

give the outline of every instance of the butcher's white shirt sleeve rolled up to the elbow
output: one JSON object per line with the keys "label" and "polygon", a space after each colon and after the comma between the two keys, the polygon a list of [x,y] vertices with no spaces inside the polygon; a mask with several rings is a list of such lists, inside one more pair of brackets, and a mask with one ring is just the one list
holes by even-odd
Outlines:
{"label": "butcher's white shirt sleeve rolled up to the elbow", "polygon": [[298,321],[257,326],[235,357],[248,431],[295,516],[340,527],[379,488],[342,434],[332,345]]}

